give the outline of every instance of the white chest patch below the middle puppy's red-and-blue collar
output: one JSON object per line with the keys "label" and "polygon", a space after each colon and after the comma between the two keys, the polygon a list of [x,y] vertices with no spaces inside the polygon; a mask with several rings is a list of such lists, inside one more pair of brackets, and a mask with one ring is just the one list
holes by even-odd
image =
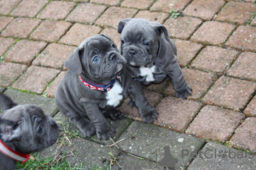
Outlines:
{"label": "white chest patch below the middle puppy's red-and-blue collar", "polygon": [[122,92],[123,88],[119,82],[116,82],[113,85],[113,88],[111,88],[106,94],[106,99],[108,100],[107,105],[112,105],[113,107],[119,105],[120,101],[123,99]]}

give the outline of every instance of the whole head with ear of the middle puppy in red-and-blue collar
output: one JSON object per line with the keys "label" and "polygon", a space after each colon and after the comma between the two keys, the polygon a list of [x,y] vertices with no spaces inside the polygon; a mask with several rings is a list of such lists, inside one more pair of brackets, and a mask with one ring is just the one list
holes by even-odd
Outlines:
{"label": "whole head with ear of the middle puppy in red-and-blue collar", "polygon": [[115,78],[126,63],[113,40],[106,35],[89,37],[73,51],[65,66],[69,71],[83,74],[93,82],[107,82]]}

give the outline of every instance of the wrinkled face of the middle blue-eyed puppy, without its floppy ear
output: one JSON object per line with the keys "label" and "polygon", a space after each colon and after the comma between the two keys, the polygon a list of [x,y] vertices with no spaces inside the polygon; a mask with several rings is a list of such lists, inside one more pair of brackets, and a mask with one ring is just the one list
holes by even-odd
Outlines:
{"label": "wrinkled face of the middle blue-eyed puppy, without its floppy ear", "polygon": [[126,63],[114,42],[108,37],[91,37],[82,47],[79,51],[82,69],[86,77],[96,82],[112,80],[119,75]]}

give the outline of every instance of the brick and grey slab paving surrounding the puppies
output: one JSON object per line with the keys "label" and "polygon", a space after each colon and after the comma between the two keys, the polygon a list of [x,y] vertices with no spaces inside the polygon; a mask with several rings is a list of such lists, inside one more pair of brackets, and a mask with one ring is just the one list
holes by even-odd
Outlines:
{"label": "brick and grey slab paving surrounding the puppies", "polygon": [[[176,19],[172,9],[180,13]],[[158,21],[177,45],[178,64],[193,88],[189,99],[177,99],[170,80],[151,84],[143,90],[158,120],[143,123],[125,99],[118,109],[129,118],[108,120],[117,131],[113,140],[122,140],[119,148],[96,136],[76,137],[41,154],[75,151],[67,156],[74,166],[112,160],[112,169],[162,169],[167,147],[176,169],[255,169],[255,14],[254,0],[3,0],[0,91],[17,103],[40,105],[62,126],[67,118],[57,110],[55,90],[74,48],[98,33],[119,46],[124,18]],[[207,150],[218,150],[217,157],[208,159]]]}

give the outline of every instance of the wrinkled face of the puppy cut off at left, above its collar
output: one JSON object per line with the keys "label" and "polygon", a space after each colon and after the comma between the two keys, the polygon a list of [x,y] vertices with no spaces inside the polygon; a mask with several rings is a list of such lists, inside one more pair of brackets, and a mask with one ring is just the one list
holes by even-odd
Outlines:
{"label": "wrinkled face of the puppy cut off at left, above its collar", "polygon": [[21,153],[44,150],[58,139],[57,123],[37,105],[16,105],[4,111],[2,118],[18,122],[18,127],[3,140],[15,144]]}

